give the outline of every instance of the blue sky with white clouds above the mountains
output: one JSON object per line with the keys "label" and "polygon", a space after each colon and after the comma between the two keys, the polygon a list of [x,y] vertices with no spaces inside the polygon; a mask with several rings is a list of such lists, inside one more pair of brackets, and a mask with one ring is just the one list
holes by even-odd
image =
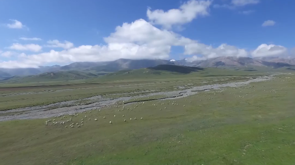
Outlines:
{"label": "blue sky with white clouds above the mountains", "polygon": [[295,57],[295,0],[0,0],[0,68]]}

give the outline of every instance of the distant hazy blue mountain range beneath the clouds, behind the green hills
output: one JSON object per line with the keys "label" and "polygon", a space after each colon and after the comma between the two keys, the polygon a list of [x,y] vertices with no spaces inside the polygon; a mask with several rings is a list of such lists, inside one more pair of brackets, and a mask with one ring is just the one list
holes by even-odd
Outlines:
{"label": "distant hazy blue mountain range beneath the clouds, behind the green hills", "polygon": [[[0,79],[9,78],[12,76],[28,76],[38,75],[47,72],[59,71],[82,71],[90,72],[93,75],[103,75],[109,72],[121,70],[133,70],[148,67],[155,67],[158,65],[177,65],[187,67],[202,67],[202,68],[220,68],[220,67],[293,67],[295,66],[295,58],[285,59],[279,57],[263,57],[263,58],[250,58],[250,57],[216,57],[202,61],[189,61],[182,60],[131,60],[131,59],[118,59],[109,62],[75,62],[65,66],[40,66],[39,68],[17,68],[17,69],[4,69],[0,68]],[[1,67],[1,66],[0,66]]]}

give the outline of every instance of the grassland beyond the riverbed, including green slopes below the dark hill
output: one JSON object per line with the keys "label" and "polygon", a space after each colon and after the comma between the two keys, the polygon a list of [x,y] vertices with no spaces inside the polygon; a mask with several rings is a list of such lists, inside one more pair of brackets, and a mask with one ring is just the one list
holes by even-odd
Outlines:
{"label": "grassland beyond the riverbed, including green slopes below the dark hill", "polygon": [[[248,76],[259,76],[263,73],[230,70],[225,75],[223,69],[205,69],[191,73],[170,71],[145,72],[146,69],[112,73],[101,78],[70,81],[48,81],[39,83],[0,83],[0,111],[28,106],[49,105],[61,101],[79,100],[95,95],[108,98],[132,96],[150,91],[173,91],[179,86],[190,88],[205,84],[242,81]],[[190,71],[190,70],[189,70]],[[115,75],[116,74],[116,75]],[[87,101],[83,101],[87,102]]]}

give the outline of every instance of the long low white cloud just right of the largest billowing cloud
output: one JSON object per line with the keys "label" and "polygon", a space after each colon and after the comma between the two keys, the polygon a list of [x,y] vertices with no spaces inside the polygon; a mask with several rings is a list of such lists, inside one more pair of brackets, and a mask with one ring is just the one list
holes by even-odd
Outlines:
{"label": "long low white cloud just right of the largest billowing cloud", "polygon": [[[202,55],[202,59],[215,58],[220,56],[236,56],[246,57],[248,52],[245,49],[240,49],[227,44],[222,44],[219,47],[212,47],[202,43],[194,42],[184,47],[184,53],[187,55]],[[199,57],[200,58],[200,57]]]}

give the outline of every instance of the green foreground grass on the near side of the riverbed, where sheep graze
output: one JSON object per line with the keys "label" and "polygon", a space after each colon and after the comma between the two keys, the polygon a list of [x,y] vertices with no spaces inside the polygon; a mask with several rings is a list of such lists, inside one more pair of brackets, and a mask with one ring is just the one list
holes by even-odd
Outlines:
{"label": "green foreground grass on the near side of the riverbed, where sheep graze", "polygon": [[295,79],[287,77],[72,117],[84,118],[81,128],[46,126],[47,119],[0,122],[1,164],[293,165]]}

